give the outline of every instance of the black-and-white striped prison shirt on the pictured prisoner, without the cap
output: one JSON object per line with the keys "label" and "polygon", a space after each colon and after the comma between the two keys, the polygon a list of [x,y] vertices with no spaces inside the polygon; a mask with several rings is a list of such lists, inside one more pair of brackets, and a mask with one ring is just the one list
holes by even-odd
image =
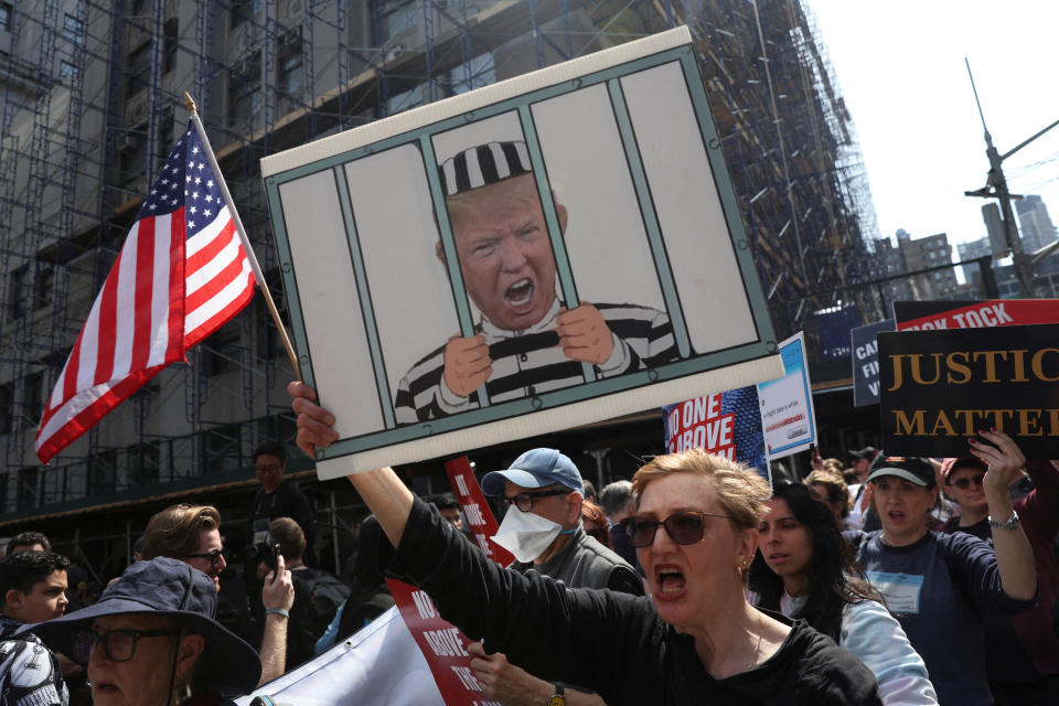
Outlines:
{"label": "black-and-white striped prison shirt on the pictured prisoner, without the cap", "polygon": [[[614,351],[596,365],[599,377],[614,377],[677,360],[670,318],[663,311],[635,304],[593,304],[610,327]],[[491,404],[573,387],[585,382],[581,363],[558,346],[555,332],[560,303],[525,331],[507,331],[483,318],[474,327],[489,344],[493,374],[485,383]],[[413,365],[400,379],[395,400],[397,424],[415,424],[478,409],[478,392],[460,397],[445,383],[445,346]]]}

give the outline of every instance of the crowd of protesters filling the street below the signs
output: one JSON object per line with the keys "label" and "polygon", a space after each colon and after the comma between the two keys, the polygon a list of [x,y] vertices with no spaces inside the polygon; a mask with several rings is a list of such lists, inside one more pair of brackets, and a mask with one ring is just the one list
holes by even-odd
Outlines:
{"label": "crowd of protesters filling the street below the signs", "polygon": [[[299,446],[333,441],[312,391],[291,395]],[[98,598],[78,596],[79,567],[46,536],[12,539],[3,703],[224,703],[385,612],[386,575],[473,641],[473,673],[504,706],[1059,703],[1059,467],[1001,432],[943,461],[817,457],[771,488],[692,449],[597,493],[567,456],[532,449],[481,479],[507,567],[468,541],[452,494],[360,473],[373,514],[342,579],[309,558],[312,513],[282,447],[254,460],[242,579],[211,505],[152,516]]]}

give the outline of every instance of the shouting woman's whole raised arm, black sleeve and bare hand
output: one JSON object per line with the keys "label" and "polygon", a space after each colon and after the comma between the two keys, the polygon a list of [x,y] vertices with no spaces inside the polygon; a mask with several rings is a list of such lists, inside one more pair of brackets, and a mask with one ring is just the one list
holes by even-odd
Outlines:
{"label": "shouting woman's whole raised arm, black sleeve and bare hand", "polygon": [[[331,429],[334,417],[315,404],[315,394],[306,385],[291,383],[287,389],[298,414],[298,446],[314,454],[317,446],[336,439]],[[633,608],[631,602],[643,599],[575,591],[534,571],[527,577],[498,566],[436,511],[416,501],[392,469],[355,473],[350,481],[394,547],[379,545],[387,555],[381,564],[426,590],[440,616],[464,634],[484,638],[490,650],[505,652],[513,664],[533,674],[584,684],[603,698],[639,689],[639,703],[652,703],[657,680],[639,678],[621,666],[638,659],[643,644],[661,643],[663,627],[650,603]],[[656,654],[652,659],[660,662]],[[654,668],[657,673],[660,667]]]}

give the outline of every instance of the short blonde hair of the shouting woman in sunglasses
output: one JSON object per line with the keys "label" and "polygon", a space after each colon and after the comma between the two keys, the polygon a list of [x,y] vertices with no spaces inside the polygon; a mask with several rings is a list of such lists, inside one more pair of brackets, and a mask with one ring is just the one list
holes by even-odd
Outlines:
{"label": "short blonde hair of the shouting woman in sunglasses", "polygon": [[757,530],[768,513],[764,501],[772,494],[768,482],[753,469],[729,461],[723,456],[703,449],[656,456],[632,477],[632,493],[637,506],[649,483],[675,473],[702,475],[709,481],[717,501],[738,526]]}

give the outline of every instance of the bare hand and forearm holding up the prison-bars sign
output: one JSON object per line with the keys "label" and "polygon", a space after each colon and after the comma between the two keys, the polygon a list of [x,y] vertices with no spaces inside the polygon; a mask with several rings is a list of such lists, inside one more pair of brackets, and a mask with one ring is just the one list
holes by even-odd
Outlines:
{"label": "bare hand and forearm holding up the prison-bars sign", "polygon": [[[317,404],[317,393],[301,382],[287,386],[291,408],[298,415],[298,448],[315,458],[317,447],[328,447],[339,435],[332,428],[334,415]],[[391,468],[354,473],[350,482],[364,499],[368,509],[378,518],[378,524],[394,546],[400,544],[411,511],[411,491]]]}

